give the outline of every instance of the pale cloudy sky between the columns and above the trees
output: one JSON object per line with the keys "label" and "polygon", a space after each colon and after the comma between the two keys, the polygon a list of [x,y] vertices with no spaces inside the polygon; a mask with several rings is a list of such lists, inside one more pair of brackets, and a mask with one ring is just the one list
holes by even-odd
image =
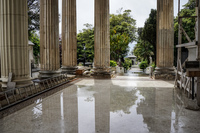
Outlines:
{"label": "pale cloudy sky between the columns and above the trees", "polygon": [[[77,1],[77,32],[84,28],[83,24],[94,25],[94,0]],[[181,5],[188,0],[181,0]],[[62,0],[59,0],[59,13],[62,13]],[[174,0],[174,14],[177,15],[178,0]],[[110,0],[110,13],[116,14],[120,8],[132,10],[132,17],[136,20],[137,27],[143,27],[151,9],[157,8],[157,0]],[[60,23],[61,33],[61,23]],[[130,45],[131,49],[134,44]]]}

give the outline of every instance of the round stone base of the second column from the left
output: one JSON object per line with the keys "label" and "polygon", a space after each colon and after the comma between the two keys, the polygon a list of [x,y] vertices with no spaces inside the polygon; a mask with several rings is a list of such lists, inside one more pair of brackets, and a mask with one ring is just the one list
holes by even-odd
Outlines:
{"label": "round stone base of the second column from the left", "polygon": [[46,79],[59,76],[61,74],[61,71],[40,71],[39,73],[40,74],[38,77],[40,79]]}

